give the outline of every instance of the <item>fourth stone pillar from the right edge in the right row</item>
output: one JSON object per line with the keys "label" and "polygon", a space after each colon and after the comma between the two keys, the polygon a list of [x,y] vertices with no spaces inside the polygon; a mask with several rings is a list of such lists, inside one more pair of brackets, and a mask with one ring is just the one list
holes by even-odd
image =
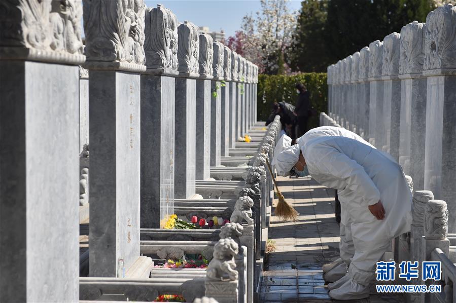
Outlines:
{"label": "fourth stone pillar from the right edge in the right row", "polygon": [[381,148],[384,143],[383,120],[383,82],[381,66],[383,63],[383,42],[378,40],[369,44],[369,143]]}

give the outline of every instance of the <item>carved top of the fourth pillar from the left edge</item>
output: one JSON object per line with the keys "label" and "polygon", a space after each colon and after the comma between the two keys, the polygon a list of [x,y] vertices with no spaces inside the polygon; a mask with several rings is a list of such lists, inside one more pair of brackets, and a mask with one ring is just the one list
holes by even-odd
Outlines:
{"label": "carved top of the fourth pillar from the left edge", "polygon": [[199,73],[199,28],[189,21],[178,27],[178,70],[195,75]]}

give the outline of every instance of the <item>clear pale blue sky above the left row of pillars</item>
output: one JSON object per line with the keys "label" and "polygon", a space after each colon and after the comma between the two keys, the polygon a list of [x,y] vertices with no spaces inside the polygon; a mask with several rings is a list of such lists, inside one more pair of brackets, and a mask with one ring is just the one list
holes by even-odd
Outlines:
{"label": "clear pale blue sky above the left row of pillars", "polygon": [[[146,0],[148,7],[162,4],[178,17],[179,22],[190,21],[197,26],[207,26],[211,31],[225,31],[225,37],[233,36],[240,29],[242,17],[259,11],[259,0]],[[291,11],[301,8],[301,1],[288,4]]]}

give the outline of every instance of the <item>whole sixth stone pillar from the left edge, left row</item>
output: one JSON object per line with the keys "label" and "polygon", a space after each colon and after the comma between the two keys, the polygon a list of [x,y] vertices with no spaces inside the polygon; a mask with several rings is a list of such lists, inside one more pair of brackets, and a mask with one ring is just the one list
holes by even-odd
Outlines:
{"label": "whole sixth stone pillar from the left edge, left row", "polygon": [[214,42],[214,79],[211,82],[211,166],[220,166],[224,46]]}

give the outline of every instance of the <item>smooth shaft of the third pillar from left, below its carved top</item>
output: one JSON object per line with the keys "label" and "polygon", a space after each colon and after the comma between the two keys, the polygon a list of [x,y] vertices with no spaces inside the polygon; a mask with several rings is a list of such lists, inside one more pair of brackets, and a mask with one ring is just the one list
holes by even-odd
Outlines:
{"label": "smooth shaft of the third pillar from left, below its carved top", "polygon": [[172,77],[141,75],[141,228],[174,213],[174,89]]}

